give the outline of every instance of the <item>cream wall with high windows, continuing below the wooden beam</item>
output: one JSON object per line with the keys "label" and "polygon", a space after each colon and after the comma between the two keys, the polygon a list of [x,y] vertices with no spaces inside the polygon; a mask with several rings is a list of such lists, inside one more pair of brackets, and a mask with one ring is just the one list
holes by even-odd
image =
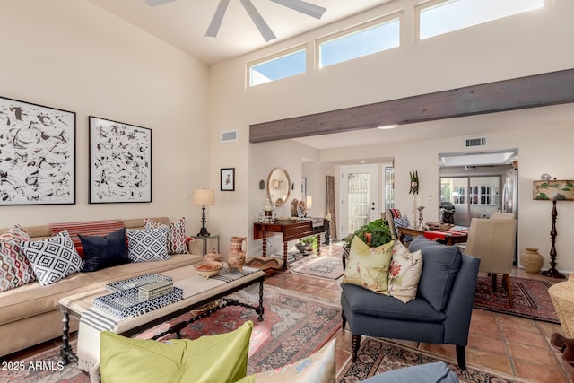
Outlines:
{"label": "cream wall with high windows, continuing below the wooden beam", "polygon": [[[415,42],[413,37],[414,0],[398,0],[374,10],[336,22],[323,29],[300,35],[260,51],[213,65],[210,69],[210,129],[213,133],[230,128],[239,130],[240,140],[231,150],[212,142],[211,174],[231,161],[244,174],[239,191],[230,200],[238,217],[225,223],[226,235],[252,235],[252,222],[258,207],[252,204],[258,190],[255,180],[265,178],[265,169],[288,163],[293,177],[299,175],[300,152],[259,148],[282,148],[280,144],[248,144],[249,124],[281,118],[304,116],[321,111],[348,108],[384,100],[396,100],[432,91],[456,89],[463,86],[490,83],[531,74],[542,74],[574,67],[574,50],[570,36],[574,35],[574,2],[549,1],[542,10],[508,17],[486,25],[459,30],[434,39]],[[249,61],[273,54],[283,48],[302,43],[313,47],[313,39],[325,36],[358,22],[404,9],[403,47],[378,55],[363,57],[322,70],[311,69],[290,79],[246,89],[245,68]],[[571,105],[514,111],[510,113],[552,113],[552,108],[572,108]],[[525,246],[550,248],[550,206],[532,201],[532,181],[550,172],[558,178],[573,178],[567,145],[572,133],[568,126],[573,120],[555,120],[547,126],[521,123],[508,131],[496,132],[500,114],[457,118],[460,126],[474,124],[476,131],[488,132],[489,150],[518,148],[519,152],[519,251]],[[422,124],[423,126],[423,124]],[[413,196],[408,194],[409,171],[418,170],[423,196],[431,195],[425,205],[425,217],[436,217],[439,192],[438,153],[461,152],[461,136],[453,129],[446,139],[417,141],[416,128],[408,143],[345,148],[321,151],[322,162],[358,158],[394,158],[396,166],[396,205],[408,211]],[[422,127],[421,127],[422,128]],[[492,133],[494,131],[494,133]],[[265,157],[258,154],[265,152]],[[265,164],[265,167],[263,166]],[[265,168],[265,169],[264,169]],[[291,174],[291,171],[290,171]],[[309,176],[308,176],[309,182]],[[434,203],[433,203],[434,202]],[[574,204],[560,204],[559,239],[557,242],[559,268],[574,270],[574,246],[570,224]],[[227,205],[225,206],[227,207]],[[412,209],[411,209],[412,210]],[[223,211],[219,218],[226,215]],[[413,218],[413,213],[409,213]],[[229,223],[229,224],[228,224]],[[570,232],[569,232],[570,231]],[[547,264],[546,264],[547,266]]]}

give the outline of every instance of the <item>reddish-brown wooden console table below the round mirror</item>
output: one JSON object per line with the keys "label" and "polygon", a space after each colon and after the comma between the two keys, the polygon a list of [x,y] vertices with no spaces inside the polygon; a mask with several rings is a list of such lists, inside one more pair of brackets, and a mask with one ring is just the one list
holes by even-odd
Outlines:
{"label": "reddish-brown wooden console table below the round mirror", "polygon": [[319,235],[326,232],[329,222],[323,219],[322,226],[313,227],[312,220],[300,220],[297,222],[254,222],[253,239],[263,239],[263,257],[267,257],[267,237],[283,235],[283,269],[287,264],[287,242],[317,235],[317,254],[321,254],[321,239]]}

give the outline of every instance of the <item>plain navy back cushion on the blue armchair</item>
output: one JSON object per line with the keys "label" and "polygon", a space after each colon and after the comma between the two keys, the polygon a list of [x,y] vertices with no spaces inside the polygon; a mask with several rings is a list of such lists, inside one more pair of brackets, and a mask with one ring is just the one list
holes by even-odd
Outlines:
{"label": "plain navy back cushion on the blue armchair", "polygon": [[422,252],[422,274],[419,295],[429,300],[432,307],[445,309],[458,270],[462,265],[462,253],[457,246],[445,246],[418,236],[411,242],[409,251]]}

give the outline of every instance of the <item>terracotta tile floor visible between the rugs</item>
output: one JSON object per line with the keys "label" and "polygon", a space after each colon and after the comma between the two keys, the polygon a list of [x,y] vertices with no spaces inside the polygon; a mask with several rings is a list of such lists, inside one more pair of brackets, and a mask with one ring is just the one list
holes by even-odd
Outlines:
{"label": "terracotta tile floor visible between the rugs", "polygon": [[[328,257],[329,248],[322,247],[321,253],[321,257]],[[517,268],[513,270],[512,276],[545,278],[540,274],[527,274]],[[341,294],[338,281],[327,281],[290,272],[274,274],[265,279],[265,284],[329,300],[338,301]],[[574,367],[563,361],[561,353],[554,350],[550,344],[550,336],[554,332],[561,332],[561,326],[474,309],[466,347],[466,362],[469,365],[500,371],[511,377],[534,382],[572,383]],[[338,331],[335,336],[338,339],[337,367],[340,367],[351,357],[351,334],[348,331]],[[59,340],[55,339],[40,344],[21,353],[9,355],[7,360],[22,359],[51,348],[58,342]],[[456,360],[455,347],[452,345],[405,343]]]}

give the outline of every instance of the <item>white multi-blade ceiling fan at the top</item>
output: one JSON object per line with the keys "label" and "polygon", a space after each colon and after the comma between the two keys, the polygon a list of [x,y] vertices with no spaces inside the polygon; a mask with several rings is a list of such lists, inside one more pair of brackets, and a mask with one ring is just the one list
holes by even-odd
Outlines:
{"label": "white multi-blade ceiling fan at the top", "polygon": [[[144,0],[145,4],[150,6],[156,6],[161,4],[170,3],[175,0]],[[287,8],[291,8],[293,11],[297,11],[299,13],[307,14],[311,17],[315,17],[316,19],[320,19],[325,13],[326,8],[322,6],[318,6],[315,4],[310,4],[308,2],[302,0],[271,0],[276,4],[281,4],[286,6]],[[243,5],[246,12],[248,13],[251,20],[256,25],[257,30],[265,39],[265,42],[276,39],[277,37],[274,35],[273,30],[269,28],[269,25],[265,22],[263,17],[260,13],[257,12],[257,8],[251,3],[251,0],[239,0],[239,2]],[[205,36],[209,37],[216,37],[219,28],[222,25],[223,16],[225,15],[225,11],[227,10],[227,5],[230,4],[230,0],[220,0],[217,8],[215,9],[215,13],[213,13],[212,21],[209,23],[209,27],[207,27],[207,31],[205,32]]]}

